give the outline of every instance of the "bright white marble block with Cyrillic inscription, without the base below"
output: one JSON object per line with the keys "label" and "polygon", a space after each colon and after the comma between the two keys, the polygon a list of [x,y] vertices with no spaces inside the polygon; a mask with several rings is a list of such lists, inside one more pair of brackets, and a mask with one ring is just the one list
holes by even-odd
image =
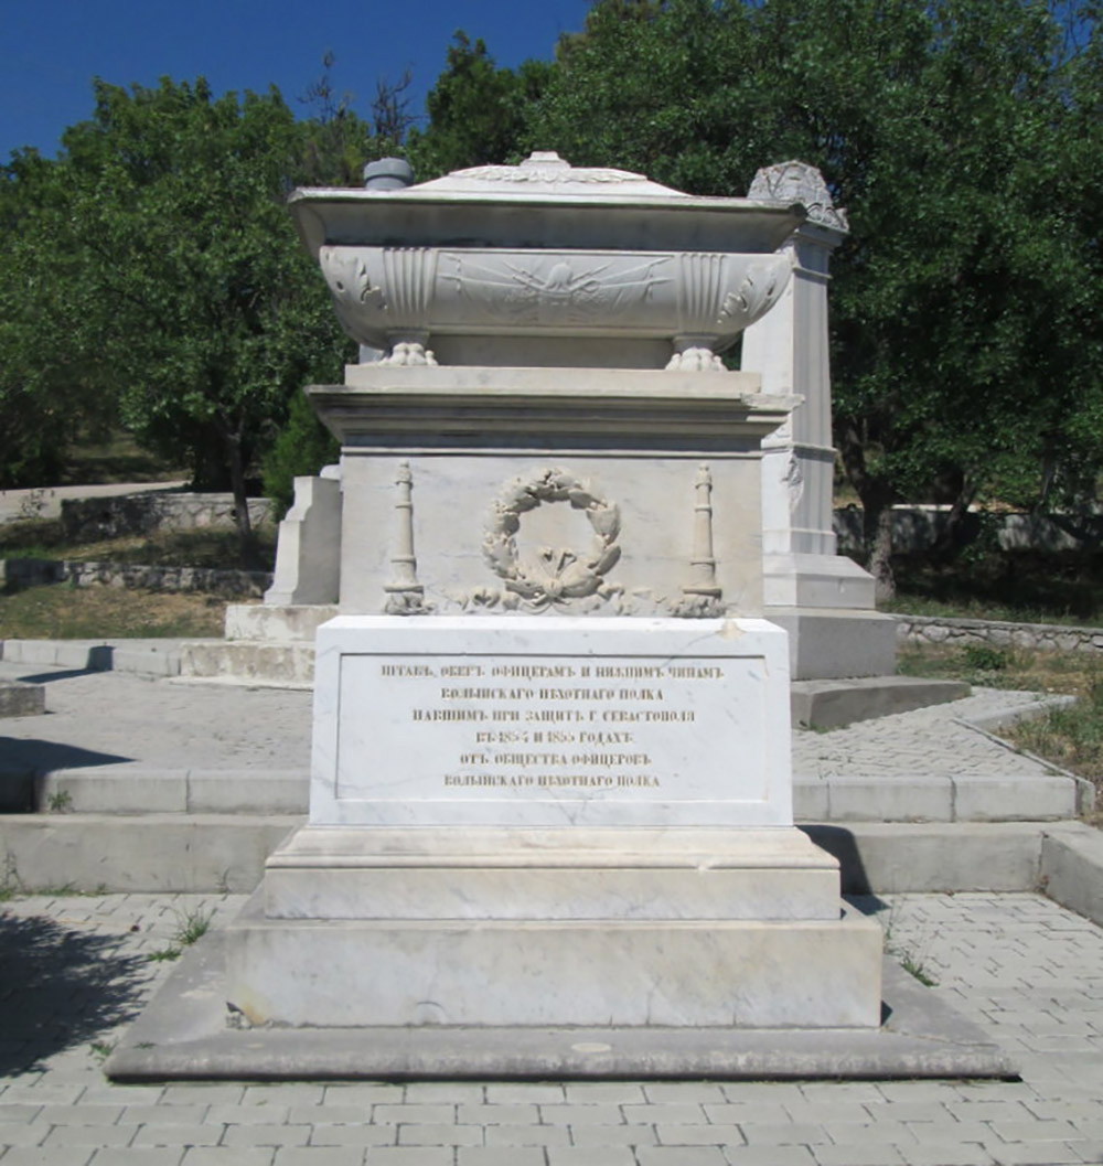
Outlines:
{"label": "bright white marble block with Cyrillic inscription, without the base below", "polygon": [[462,653],[346,640],[326,669],[319,637],[319,684],[332,676],[336,702],[316,724],[311,819],[787,824],[777,653],[712,637],[702,652],[687,634],[735,620],[647,623],[675,625],[682,651],[540,652],[524,635],[514,651]]}

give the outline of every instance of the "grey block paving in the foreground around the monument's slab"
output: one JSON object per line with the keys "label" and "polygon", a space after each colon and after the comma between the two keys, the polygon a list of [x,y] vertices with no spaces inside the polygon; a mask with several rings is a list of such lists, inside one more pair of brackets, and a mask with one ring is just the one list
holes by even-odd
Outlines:
{"label": "grey block paving in the foreground around the monument's slab", "polygon": [[1021,1082],[114,1087],[100,1062],[191,919],[243,897],[0,905],[0,1166],[1103,1163],[1103,930],[1038,895],[908,895],[887,942]]}

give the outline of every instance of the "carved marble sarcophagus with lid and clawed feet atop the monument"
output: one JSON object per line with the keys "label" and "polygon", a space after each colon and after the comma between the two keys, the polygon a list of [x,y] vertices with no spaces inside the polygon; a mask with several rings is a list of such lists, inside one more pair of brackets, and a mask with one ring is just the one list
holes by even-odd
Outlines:
{"label": "carved marble sarcophagus with lid and clawed feet atop the monument", "polygon": [[806,217],[554,153],[290,205],[345,330],[400,365],[721,368],[785,289],[774,251]]}

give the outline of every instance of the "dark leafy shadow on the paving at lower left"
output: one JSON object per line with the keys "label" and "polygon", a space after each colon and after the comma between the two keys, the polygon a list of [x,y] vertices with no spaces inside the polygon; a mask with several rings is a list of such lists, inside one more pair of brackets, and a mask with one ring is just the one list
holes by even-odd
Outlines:
{"label": "dark leafy shadow on the paving at lower left", "polygon": [[148,972],[119,937],[0,911],[0,1075],[41,1070],[133,1020]]}

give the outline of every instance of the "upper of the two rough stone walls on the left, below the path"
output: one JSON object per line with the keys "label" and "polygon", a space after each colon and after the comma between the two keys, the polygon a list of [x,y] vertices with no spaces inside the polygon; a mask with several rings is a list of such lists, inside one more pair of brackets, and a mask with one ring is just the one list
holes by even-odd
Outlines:
{"label": "upper of the two rough stone walls on the left, below the path", "polygon": [[[254,526],[272,513],[272,499],[251,498],[250,519]],[[120,494],[113,498],[66,498],[62,501],[61,522],[73,540],[118,539],[150,531],[233,529],[233,498],[230,494],[192,494],[161,491]]]}

